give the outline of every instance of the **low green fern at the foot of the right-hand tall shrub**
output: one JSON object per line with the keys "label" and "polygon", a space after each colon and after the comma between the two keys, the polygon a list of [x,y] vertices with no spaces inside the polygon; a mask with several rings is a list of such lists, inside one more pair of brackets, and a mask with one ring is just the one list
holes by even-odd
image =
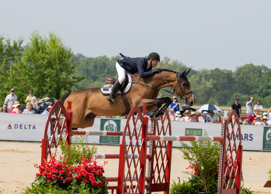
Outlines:
{"label": "low green fern at the foot of the right-hand tall shrub", "polygon": [[182,183],[176,183],[172,180],[172,184],[170,184],[170,194],[197,194],[198,190],[194,189],[191,186],[191,183],[182,181]]}

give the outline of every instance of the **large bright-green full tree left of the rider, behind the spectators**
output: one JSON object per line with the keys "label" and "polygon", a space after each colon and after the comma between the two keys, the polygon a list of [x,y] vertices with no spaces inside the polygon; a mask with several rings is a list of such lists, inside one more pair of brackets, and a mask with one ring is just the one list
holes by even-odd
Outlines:
{"label": "large bright-green full tree left of the rider, behind the spectators", "polygon": [[78,66],[70,60],[74,54],[54,32],[49,32],[48,38],[42,37],[37,30],[31,32],[27,46],[22,57],[23,66],[28,62],[25,75],[37,97],[60,99],[62,93],[85,78],[74,75]]}

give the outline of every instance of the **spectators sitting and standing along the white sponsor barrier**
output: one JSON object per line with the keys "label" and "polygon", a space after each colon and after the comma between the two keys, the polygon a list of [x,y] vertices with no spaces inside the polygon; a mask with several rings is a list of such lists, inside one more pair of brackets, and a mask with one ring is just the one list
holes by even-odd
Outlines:
{"label": "spectators sitting and standing along the white sponsor barrier", "polygon": [[[25,99],[26,107],[18,102],[17,96],[14,94],[15,90],[10,89],[10,94],[6,96],[3,103],[3,107],[0,108],[0,112],[4,113],[18,113],[18,114],[42,114],[48,115],[52,106],[47,104],[47,108],[43,112],[38,112],[37,98],[33,95],[33,89],[29,90],[29,95]],[[240,124],[243,125],[258,125],[258,126],[271,126],[271,107],[268,112],[264,113],[263,106],[260,99],[253,105],[254,98],[251,97],[246,102],[246,116],[240,116],[242,109],[239,103],[239,99],[235,99],[235,103],[232,104],[230,112],[235,110],[239,116]],[[214,116],[213,110],[203,111],[200,114],[196,114],[195,111],[191,112],[191,109],[186,109],[184,113],[180,113],[181,102],[177,101],[176,96],[172,97],[172,103],[170,105],[170,120],[183,121],[183,122],[202,122],[202,123],[221,123],[221,117],[219,115]],[[116,117],[116,118],[120,118]]]}

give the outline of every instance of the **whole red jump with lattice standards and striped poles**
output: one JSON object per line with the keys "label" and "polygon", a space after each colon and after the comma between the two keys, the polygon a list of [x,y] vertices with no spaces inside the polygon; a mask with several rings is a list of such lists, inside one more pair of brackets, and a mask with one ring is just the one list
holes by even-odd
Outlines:
{"label": "whole red jump with lattice standards and striped poles", "polygon": [[[68,102],[68,110],[71,109],[71,102]],[[60,107],[57,113],[57,106]],[[143,113],[146,113],[146,105],[143,107]],[[53,127],[52,114],[55,113],[57,122]],[[134,117],[134,114],[136,116]],[[226,114],[225,114],[226,115]],[[72,113],[66,112],[63,104],[57,101],[47,118],[42,139],[42,166],[44,160],[48,159],[51,154],[52,142],[55,147],[59,145],[56,132],[62,134],[66,124],[65,140],[71,144],[71,135],[97,135],[97,136],[122,136],[119,154],[97,154],[97,159],[118,159],[118,175],[116,177],[107,177],[108,182],[117,182],[116,186],[108,186],[113,194],[151,194],[152,192],[163,191],[169,194],[170,189],[170,170],[172,158],[172,141],[218,141],[220,142],[219,157],[219,177],[218,177],[218,194],[240,194],[241,175],[242,175],[242,145],[240,122],[236,112],[233,110],[229,118],[224,115],[221,126],[221,137],[198,137],[198,136],[172,136],[171,123],[168,111],[160,120],[151,123],[151,131],[148,132],[148,119],[143,117],[140,109],[135,105],[130,111],[123,131],[88,131],[88,130],[71,130]],[[59,119],[63,118],[62,126],[59,125]],[[234,117],[235,116],[235,117]],[[132,120],[132,124],[130,124]],[[139,128],[137,129],[140,123]],[[235,124],[237,123],[237,124]],[[159,126],[160,125],[160,126]],[[230,128],[229,128],[229,125]],[[47,131],[50,127],[52,133],[51,141],[48,140]],[[227,141],[232,139],[231,141]],[[141,140],[140,140],[141,138]],[[126,142],[126,139],[129,141]],[[238,140],[237,140],[238,139]],[[147,141],[149,141],[149,152],[147,154]],[[139,145],[141,143],[141,145]],[[56,151],[56,150],[55,150]],[[229,152],[229,156],[227,153]],[[148,159],[148,166],[146,165]],[[229,168],[233,164],[235,168]],[[225,166],[225,167],[224,167]],[[226,181],[227,174],[234,177]],[[133,178],[130,178],[133,177]]]}

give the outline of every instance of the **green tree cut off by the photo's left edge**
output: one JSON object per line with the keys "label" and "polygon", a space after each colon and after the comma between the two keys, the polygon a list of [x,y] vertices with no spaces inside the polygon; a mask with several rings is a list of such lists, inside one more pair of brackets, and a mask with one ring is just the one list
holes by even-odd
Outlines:
{"label": "green tree cut off by the photo's left edge", "polygon": [[[23,37],[18,40],[11,40],[10,37],[5,38],[4,34],[0,34],[0,103],[3,104],[6,95],[9,94],[11,88],[17,89],[18,83],[9,84],[8,79],[10,74],[10,67],[12,64],[17,64],[22,56],[21,44],[24,41]],[[17,95],[16,91],[16,95]],[[18,95],[17,95],[18,96]]]}

